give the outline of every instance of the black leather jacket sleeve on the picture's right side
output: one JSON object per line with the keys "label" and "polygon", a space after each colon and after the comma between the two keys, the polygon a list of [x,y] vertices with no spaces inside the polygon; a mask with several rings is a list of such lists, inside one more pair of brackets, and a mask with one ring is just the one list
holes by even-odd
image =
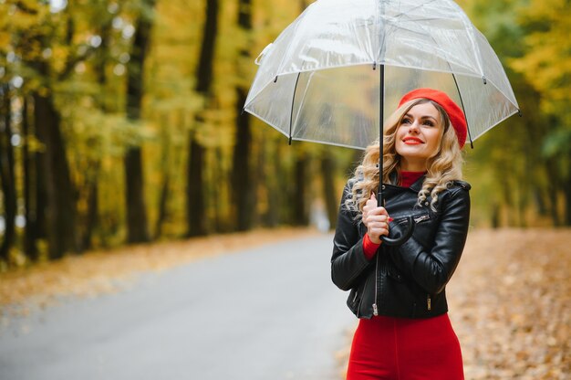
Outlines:
{"label": "black leather jacket sleeve on the picture's right side", "polygon": [[[452,278],[462,256],[470,221],[470,194],[455,187],[442,199],[441,221],[434,244],[424,248],[410,237],[399,248],[389,249],[395,265],[431,294],[438,294]],[[400,235],[400,226],[390,226],[391,236]]]}

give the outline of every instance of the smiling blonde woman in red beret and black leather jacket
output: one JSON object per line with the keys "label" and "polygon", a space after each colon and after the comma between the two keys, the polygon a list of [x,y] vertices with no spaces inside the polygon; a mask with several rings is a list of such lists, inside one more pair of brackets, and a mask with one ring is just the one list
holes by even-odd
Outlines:
{"label": "smiling blonde woman in red beret and black leather jacket", "polygon": [[[462,182],[462,110],[444,92],[407,93],[385,122],[385,207],[377,206],[379,142],[370,145],[343,192],[332,279],[351,290],[360,319],[348,380],[463,379],[460,343],[445,287],[462,255],[470,185]],[[413,216],[412,237],[389,247]]]}

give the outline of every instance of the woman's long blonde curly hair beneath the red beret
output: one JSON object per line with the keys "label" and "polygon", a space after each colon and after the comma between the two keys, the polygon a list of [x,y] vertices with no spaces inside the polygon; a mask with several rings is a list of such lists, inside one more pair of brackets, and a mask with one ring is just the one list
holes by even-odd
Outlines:
{"label": "woman's long blonde curly hair beneath the red beret", "polygon": [[[402,104],[389,116],[384,124],[383,136],[383,184],[400,183],[400,155],[395,148],[396,134],[404,115],[417,104],[430,102],[441,115],[440,148],[428,160],[428,170],[419,192],[418,204],[431,197],[431,209],[436,211],[438,195],[452,185],[454,180],[462,180],[462,150],[458,137],[446,111],[435,101],[415,99]],[[442,128],[443,127],[443,128]],[[393,175],[393,174],[396,174]],[[396,178],[396,184],[391,179]],[[363,206],[371,194],[377,194],[379,188],[379,140],[372,142],[366,149],[363,160],[349,179],[351,196],[345,202],[348,210],[362,215]]]}

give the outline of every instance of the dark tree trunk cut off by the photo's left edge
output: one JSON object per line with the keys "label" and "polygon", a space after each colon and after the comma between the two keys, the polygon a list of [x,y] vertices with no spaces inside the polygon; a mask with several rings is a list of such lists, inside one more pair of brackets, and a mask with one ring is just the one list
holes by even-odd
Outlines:
{"label": "dark tree trunk cut off by the photo's left edge", "polygon": [[5,230],[0,245],[0,259],[8,261],[10,248],[16,237],[16,176],[14,174],[14,148],[12,146],[12,112],[10,107],[10,87],[0,88],[2,123],[0,123],[0,182],[4,199]]}

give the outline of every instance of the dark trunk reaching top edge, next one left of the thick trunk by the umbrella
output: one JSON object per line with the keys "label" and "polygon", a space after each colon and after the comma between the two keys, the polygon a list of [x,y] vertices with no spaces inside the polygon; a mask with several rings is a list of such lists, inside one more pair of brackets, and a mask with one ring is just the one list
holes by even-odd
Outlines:
{"label": "dark trunk reaching top edge, next one left of the thick trunk by the umbrella", "polygon": [[[143,5],[152,11],[155,0],[144,0]],[[140,120],[144,92],[144,65],[151,42],[152,18],[145,10],[137,19],[135,38],[128,65],[127,117]],[[149,12],[151,13],[151,12]],[[125,155],[125,185],[127,205],[127,227],[129,243],[149,241],[147,208],[145,206],[144,179],[140,146],[131,147]]]}

